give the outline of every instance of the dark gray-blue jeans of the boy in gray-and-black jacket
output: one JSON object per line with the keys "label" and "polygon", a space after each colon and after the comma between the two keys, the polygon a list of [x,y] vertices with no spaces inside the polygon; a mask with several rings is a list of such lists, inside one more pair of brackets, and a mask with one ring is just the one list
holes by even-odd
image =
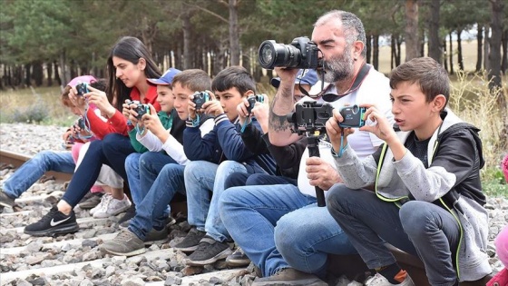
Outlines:
{"label": "dark gray-blue jeans of the boy in gray-and-black jacket", "polygon": [[328,192],[327,207],[370,269],[396,262],[385,242],[418,255],[431,285],[454,285],[453,257],[460,239],[450,212],[430,202],[405,202],[399,209],[374,192],[351,190],[343,184]]}

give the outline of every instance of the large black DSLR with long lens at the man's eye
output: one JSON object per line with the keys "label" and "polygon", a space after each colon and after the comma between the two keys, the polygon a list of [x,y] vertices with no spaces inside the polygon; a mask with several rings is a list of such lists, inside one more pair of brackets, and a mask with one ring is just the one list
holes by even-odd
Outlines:
{"label": "large black DSLR with long lens at the man's eye", "polygon": [[308,37],[295,38],[291,44],[267,40],[259,45],[259,64],[273,70],[276,66],[315,69],[319,65],[318,45]]}

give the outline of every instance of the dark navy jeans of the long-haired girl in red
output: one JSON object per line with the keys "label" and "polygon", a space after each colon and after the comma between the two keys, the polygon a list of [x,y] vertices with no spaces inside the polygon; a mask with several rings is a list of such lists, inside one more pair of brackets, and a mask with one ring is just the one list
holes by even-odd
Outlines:
{"label": "dark navy jeans of the long-haired girl in red", "polygon": [[104,136],[103,140],[93,141],[90,143],[82,163],[74,172],[73,179],[62,200],[75,207],[86,192],[92,188],[93,183],[99,177],[103,164],[112,167],[112,170],[118,173],[124,182],[128,182],[125,159],[134,152],[131,140],[122,134],[109,133]]}

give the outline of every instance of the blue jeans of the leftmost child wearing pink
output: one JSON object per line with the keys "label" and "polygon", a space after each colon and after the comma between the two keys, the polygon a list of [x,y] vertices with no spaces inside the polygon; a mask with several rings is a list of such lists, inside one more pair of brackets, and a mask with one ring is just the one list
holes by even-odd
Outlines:
{"label": "blue jeans of the leftmost child wearing pink", "polygon": [[26,192],[34,182],[37,182],[48,171],[74,173],[76,164],[70,152],[55,153],[42,151],[19,167],[15,173],[4,182],[2,189],[9,197],[16,199]]}

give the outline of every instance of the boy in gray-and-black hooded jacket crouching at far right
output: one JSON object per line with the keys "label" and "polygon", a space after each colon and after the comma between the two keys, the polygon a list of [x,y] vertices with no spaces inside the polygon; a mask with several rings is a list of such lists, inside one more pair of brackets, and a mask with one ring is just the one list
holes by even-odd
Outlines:
{"label": "boy in gray-and-black hooded jacket crouching at far right", "polygon": [[[340,113],[328,120],[344,180],[330,189],[328,210],[366,265],[376,269],[366,285],[414,285],[385,242],[418,255],[432,285],[479,280],[491,272],[479,130],[445,109],[448,76],[431,58],[396,67],[390,87],[398,126],[394,130],[376,106],[365,105],[364,118],[372,123],[360,130],[385,141],[365,160],[347,146],[352,132],[339,126]],[[371,185],[375,192],[365,189]]]}

